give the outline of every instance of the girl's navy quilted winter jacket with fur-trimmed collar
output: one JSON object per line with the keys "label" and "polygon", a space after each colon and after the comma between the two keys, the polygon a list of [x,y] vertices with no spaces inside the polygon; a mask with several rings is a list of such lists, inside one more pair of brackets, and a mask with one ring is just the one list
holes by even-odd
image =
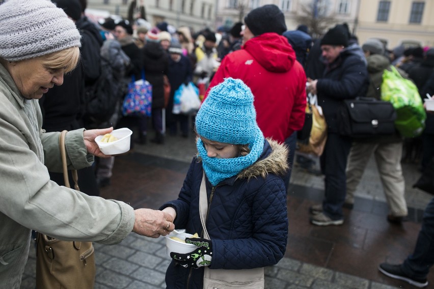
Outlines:
{"label": "girl's navy quilted winter jacket with fur-trimmed collar", "polygon": [[[212,241],[210,269],[252,269],[277,264],[286,250],[288,219],[282,177],[287,150],[265,141],[259,160],[212,187],[206,180],[208,200],[213,190],[206,227]],[[194,158],[178,199],[163,205],[176,210],[175,227],[203,236],[199,217],[202,163]],[[203,268],[184,268],[172,261],[166,273],[167,288],[200,288]]]}

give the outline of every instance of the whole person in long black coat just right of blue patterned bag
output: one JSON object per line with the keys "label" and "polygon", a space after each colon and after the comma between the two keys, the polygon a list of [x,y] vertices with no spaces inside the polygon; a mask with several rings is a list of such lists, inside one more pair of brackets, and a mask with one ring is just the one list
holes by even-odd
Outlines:
{"label": "whole person in long black coat just right of blue patterned bag", "polygon": [[[164,100],[164,75],[167,75],[169,68],[169,57],[159,43],[158,35],[148,32],[146,44],[142,51],[143,69],[146,80],[152,85],[152,125],[155,130],[155,137],[152,142],[164,143],[164,128],[162,120],[162,109],[165,107]],[[146,142],[148,118],[140,120],[140,140]]]}

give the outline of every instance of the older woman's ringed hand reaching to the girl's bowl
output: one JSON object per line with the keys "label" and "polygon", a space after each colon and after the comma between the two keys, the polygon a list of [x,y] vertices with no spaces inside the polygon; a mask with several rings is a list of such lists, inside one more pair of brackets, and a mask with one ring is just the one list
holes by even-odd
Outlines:
{"label": "older woman's ringed hand reaching to the girl's bowl", "polygon": [[151,209],[134,210],[135,221],[132,232],[151,238],[166,236],[175,229],[172,216]]}

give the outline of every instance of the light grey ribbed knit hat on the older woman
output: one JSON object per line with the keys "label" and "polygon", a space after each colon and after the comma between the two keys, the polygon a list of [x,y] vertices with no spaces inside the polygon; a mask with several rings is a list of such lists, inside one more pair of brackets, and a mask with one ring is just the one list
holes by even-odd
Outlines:
{"label": "light grey ribbed knit hat on the older woman", "polygon": [[0,57],[20,61],[80,46],[65,12],[48,0],[9,0],[0,5]]}

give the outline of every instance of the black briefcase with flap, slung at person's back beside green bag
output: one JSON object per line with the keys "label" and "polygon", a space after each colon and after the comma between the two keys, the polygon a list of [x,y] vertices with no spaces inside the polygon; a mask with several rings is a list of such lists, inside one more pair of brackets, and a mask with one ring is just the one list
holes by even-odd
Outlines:
{"label": "black briefcase with flap, slung at person's back beside green bag", "polygon": [[388,101],[368,97],[346,99],[337,117],[342,135],[366,138],[395,133],[396,111]]}

